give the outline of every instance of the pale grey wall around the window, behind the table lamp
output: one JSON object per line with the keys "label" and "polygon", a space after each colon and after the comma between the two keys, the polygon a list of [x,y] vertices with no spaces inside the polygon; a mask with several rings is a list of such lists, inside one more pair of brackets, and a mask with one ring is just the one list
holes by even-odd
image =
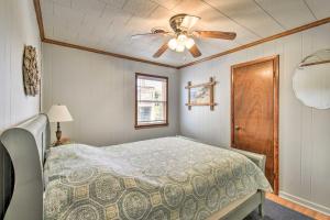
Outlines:
{"label": "pale grey wall around the window, behind the table lamp", "polygon": [[[43,44],[43,111],[63,103],[75,120],[63,123],[65,136],[110,145],[177,134],[176,69],[50,44]],[[169,77],[169,127],[134,129],[135,73]]]}

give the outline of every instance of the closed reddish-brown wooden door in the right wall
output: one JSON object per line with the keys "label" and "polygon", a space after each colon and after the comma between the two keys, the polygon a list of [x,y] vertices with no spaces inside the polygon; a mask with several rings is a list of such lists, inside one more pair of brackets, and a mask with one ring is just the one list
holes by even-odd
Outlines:
{"label": "closed reddish-brown wooden door in the right wall", "polygon": [[266,155],[278,193],[278,56],[232,66],[232,147]]}

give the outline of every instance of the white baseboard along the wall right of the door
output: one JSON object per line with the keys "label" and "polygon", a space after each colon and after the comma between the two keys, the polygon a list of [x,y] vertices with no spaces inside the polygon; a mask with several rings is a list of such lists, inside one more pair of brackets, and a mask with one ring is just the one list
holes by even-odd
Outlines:
{"label": "white baseboard along the wall right of the door", "polygon": [[297,196],[293,196],[293,195],[287,194],[285,191],[279,191],[278,196],[282,197],[282,198],[284,198],[284,199],[287,199],[289,201],[296,202],[296,204],[298,204],[300,206],[304,206],[304,207],[307,207],[309,209],[312,209],[312,210],[316,210],[318,212],[321,212],[323,215],[330,216],[330,208],[324,207],[322,205],[318,205],[318,204],[308,201],[306,199],[302,199],[302,198],[297,197]]}

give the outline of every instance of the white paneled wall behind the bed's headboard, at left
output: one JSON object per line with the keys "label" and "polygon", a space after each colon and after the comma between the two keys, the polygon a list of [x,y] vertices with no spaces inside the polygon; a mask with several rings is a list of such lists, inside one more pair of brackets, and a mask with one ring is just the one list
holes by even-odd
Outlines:
{"label": "white paneled wall behind the bed's headboard, at left", "polygon": [[[4,129],[38,113],[40,98],[24,95],[22,80],[24,44],[37,48],[41,64],[41,42],[33,1],[0,0],[0,134]],[[6,155],[0,147],[0,219],[3,198],[7,198],[10,190],[8,174],[11,170]]]}

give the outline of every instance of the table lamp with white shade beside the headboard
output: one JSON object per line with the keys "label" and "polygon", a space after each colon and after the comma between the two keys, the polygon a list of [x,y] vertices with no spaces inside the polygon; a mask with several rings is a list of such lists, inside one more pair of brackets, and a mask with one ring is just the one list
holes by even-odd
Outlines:
{"label": "table lamp with white shade beside the headboard", "polygon": [[62,105],[52,106],[47,116],[50,122],[57,123],[57,131],[56,131],[57,141],[55,142],[55,146],[58,146],[62,144],[61,143],[62,131],[61,131],[59,122],[74,121],[74,119],[70,112],[67,110],[66,106],[62,106]]}

